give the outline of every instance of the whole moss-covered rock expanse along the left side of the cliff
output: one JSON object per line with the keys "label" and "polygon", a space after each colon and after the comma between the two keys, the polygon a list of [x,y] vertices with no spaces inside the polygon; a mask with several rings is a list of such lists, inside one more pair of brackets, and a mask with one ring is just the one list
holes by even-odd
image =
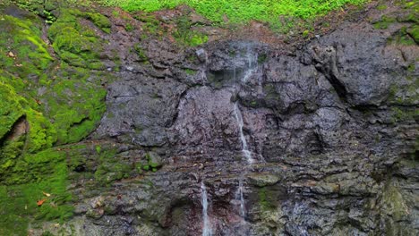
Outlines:
{"label": "whole moss-covered rock expanse along the left side of the cliff", "polygon": [[[81,18],[110,27],[105,16],[64,10],[48,31],[56,60],[43,40],[41,19],[0,11],[0,235],[26,235],[29,223],[73,215],[68,168],[80,158],[68,161],[69,147],[53,146],[80,141],[96,128],[109,78],[90,72],[103,68],[104,41]],[[120,167],[112,166],[115,173]]]}

